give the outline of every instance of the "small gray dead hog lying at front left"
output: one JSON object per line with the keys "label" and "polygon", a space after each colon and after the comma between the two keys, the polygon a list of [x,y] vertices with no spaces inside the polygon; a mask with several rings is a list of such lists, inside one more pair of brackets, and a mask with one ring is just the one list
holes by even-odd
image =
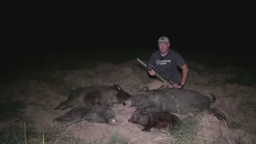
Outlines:
{"label": "small gray dead hog lying at front left", "polygon": [[85,120],[89,122],[113,124],[115,122],[115,113],[111,109],[102,108],[100,106],[93,107],[76,107],[69,110],[66,114],[54,118],[53,122],[78,121]]}

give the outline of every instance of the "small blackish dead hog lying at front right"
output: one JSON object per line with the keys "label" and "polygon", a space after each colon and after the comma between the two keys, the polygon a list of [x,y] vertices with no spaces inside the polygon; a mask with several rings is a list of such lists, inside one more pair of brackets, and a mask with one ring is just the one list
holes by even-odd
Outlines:
{"label": "small blackish dead hog lying at front right", "polygon": [[134,111],[128,122],[144,126],[141,131],[149,131],[151,127],[171,129],[174,125],[180,124],[181,120],[167,112]]}

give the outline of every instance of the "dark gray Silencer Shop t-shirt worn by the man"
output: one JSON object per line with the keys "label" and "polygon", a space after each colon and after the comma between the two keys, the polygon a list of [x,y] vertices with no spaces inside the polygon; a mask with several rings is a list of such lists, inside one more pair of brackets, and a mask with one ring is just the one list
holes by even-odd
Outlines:
{"label": "dark gray Silencer Shop t-shirt worn by the man", "polygon": [[153,64],[174,83],[180,83],[180,72],[177,66],[181,68],[186,62],[178,52],[170,49],[165,57],[162,57],[159,50],[152,53],[149,59],[150,64]]}

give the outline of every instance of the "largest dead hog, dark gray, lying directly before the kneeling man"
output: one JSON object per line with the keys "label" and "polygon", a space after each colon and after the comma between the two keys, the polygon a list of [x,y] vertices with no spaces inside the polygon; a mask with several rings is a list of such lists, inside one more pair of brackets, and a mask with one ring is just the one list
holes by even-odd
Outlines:
{"label": "largest dead hog, dark gray, lying directly before the kneeling man", "polygon": [[210,105],[216,100],[212,95],[211,101],[206,95],[188,89],[143,90],[130,99],[129,107],[137,107],[137,111],[145,109],[149,112],[165,111],[186,114],[196,110],[208,110],[219,119],[225,119],[224,114]]}

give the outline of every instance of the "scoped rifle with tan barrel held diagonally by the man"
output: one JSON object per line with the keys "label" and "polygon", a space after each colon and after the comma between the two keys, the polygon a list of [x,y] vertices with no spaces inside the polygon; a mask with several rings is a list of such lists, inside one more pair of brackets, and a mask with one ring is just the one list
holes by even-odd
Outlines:
{"label": "scoped rifle with tan barrel held diagonally by the man", "polygon": [[167,87],[174,87],[173,86],[173,82],[171,81],[171,79],[169,79],[167,76],[165,76],[160,70],[156,69],[156,67],[154,65],[150,65],[147,66],[143,61],[141,61],[140,59],[137,59],[144,67],[146,67],[148,70],[155,70],[156,71],[156,77],[159,78],[162,82],[164,82],[164,84],[159,87],[159,90],[165,89]]}

